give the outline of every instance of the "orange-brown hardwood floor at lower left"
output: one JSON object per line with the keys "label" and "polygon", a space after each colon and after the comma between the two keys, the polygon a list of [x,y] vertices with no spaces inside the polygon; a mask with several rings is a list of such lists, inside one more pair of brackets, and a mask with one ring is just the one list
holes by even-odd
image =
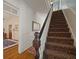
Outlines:
{"label": "orange-brown hardwood floor at lower left", "polygon": [[35,59],[34,55],[30,54],[27,50],[22,54],[18,53],[18,45],[3,50],[4,59]]}

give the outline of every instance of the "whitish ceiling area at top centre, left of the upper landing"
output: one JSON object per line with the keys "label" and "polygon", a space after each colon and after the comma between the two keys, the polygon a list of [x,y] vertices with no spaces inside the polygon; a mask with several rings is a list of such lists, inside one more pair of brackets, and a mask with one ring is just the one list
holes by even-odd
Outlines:
{"label": "whitish ceiling area at top centre, left of the upper landing", "polygon": [[42,10],[47,8],[46,1],[48,0],[25,0],[25,1],[34,11],[41,10],[42,12]]}

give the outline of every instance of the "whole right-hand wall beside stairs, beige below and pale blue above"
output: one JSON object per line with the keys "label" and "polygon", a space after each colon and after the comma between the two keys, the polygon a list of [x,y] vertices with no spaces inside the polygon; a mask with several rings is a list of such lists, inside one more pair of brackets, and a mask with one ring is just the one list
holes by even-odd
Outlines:
{"label": "whole right-hand wall beside stairs, beige below and pale blue above", "polygon": [[[63,9],[65,6],[67,8]],[[72,33],[74,45],[76,46],[76,0],[61,0],[61,8]]]}

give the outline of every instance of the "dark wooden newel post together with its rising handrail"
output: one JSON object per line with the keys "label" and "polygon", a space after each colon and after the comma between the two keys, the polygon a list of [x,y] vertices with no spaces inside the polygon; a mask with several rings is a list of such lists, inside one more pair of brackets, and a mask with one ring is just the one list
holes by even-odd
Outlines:
{"label": "dark wooden newel post together with its rising handrail", "polygon": [[41,45],[41,38],[42,38],[43,32],[45,30],[45,27],[46,27],[46,24],[47,24],[47,21],[48,21],[50,11],[51,11],[51,9],[49,10],[49,12],[47,14],[47,17],[45,19],[45,22],[43,23],[43,26],[42,26],[40,33],[39,32],[34,33],[35,38],[33,40],[33,47],[36,50],[35,59],[40,59],[40,51],[39,50],[42,49],[42,48],[40,48],[40,46],[42,46]]}

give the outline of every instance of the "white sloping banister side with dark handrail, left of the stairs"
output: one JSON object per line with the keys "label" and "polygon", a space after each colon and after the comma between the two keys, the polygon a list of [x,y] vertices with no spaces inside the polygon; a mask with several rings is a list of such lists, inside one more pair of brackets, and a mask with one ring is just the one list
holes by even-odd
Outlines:
{"label": "white sloping banister side with dark handrail, left of the stairs", "polygon": [[51,19],[51,15],[52,15],[52,8],[50,8],[47,17],[45,19],[45,22],[43,23],[42,29],[39,33],[39,39],[40,39],[40,48],[39,48],[39,54],[40,57],[39,59],[43,59],[43,52],[45,49],[45,42],[46,42],[46,38],[47,38],[47,33],[48,33],[48,29],[49,29],[49,24],[50,24],[50,19]]}

